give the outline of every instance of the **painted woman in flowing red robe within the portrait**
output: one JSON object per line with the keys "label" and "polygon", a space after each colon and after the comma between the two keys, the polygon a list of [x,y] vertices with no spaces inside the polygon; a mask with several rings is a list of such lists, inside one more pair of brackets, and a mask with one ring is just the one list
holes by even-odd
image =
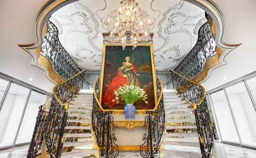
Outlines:
{"label": "painted woman in flowing red robe within the portrait", "polygon": [[124,85],[136,85],[140,87],[138,76],[136,73],[136,66],[130,62],[130,57],[125,57],[125,61],[122,66],[117,70],[117,76],[113,78],[111,84],[105,91],[104,96],[102,97],[103,104],[107,104],[109,107],[113,107],[115,102],[112,100],[115,99],[114,90],[117,90],[120,86]]}

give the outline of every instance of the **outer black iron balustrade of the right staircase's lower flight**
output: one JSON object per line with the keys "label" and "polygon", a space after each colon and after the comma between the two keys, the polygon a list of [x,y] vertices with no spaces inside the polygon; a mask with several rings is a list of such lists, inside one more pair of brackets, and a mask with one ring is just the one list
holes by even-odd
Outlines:
{"label": "outer black iron balustrade of the right staircase's lower flight", "polygon": [[181,93],[195,109],[196,125],[203,158],[210,158],[213,151],[214,132],[208,111],[203,86],[170,70],[173,78],[173,86]]}

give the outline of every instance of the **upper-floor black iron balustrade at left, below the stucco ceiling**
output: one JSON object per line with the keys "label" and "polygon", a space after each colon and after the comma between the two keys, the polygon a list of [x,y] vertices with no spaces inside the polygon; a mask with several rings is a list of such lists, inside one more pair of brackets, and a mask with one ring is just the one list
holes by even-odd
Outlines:
{"label": "upper-floor black iron balustrade at left, below the stucco ceiling", "polygon": [[58,29],[50,21],[40,54],[49,59],[53,70],[65,80],[82,71],[60,44]]}

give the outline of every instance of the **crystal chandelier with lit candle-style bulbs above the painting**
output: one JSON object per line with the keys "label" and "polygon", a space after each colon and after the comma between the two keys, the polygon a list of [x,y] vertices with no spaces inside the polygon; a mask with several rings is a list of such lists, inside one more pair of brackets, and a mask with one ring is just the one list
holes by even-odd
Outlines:
{"label": "crystal chandelier with lit candle-style bulbs above the painting", "polygon": [[109,39],[116,46],[117,43],[122,44],[123,50],[126,44],[132,44],[132,49],[134,49],[139,42],[144,44],[150,37],[148,30],[153,23],[150,19],[145,24],[141,21],[140,8],[136,8],[138,3],[134,4],[134,0],[122,0],[121,4],[123,7],[115,11],[117,14],[115,23],[112,25],[109,18],[105,21],[105,25],[110,31]]}

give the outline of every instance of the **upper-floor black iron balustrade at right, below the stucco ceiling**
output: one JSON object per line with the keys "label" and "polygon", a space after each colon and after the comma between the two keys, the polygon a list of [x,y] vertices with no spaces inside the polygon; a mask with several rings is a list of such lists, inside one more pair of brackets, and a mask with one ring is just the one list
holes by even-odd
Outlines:
{"label": "upper-floor black iron balustrade at right, below the stucco ceiling", "polygon": [[217,54],[215,47],[210,24],[206,22],[199,29],[196,45],[174,70],[189,79],[196,77],[204,69],[206,61]]}

